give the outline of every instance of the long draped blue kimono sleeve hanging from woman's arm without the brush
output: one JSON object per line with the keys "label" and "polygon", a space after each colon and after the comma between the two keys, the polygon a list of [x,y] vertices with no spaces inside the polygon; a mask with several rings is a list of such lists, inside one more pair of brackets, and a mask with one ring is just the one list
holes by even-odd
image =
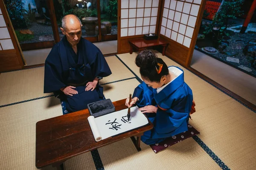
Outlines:
{"label": "long draped blue kimono sleeve hanging from woman's arm without the brush", "polygon": [[170,98],[176,98],[170,103],[171,108],[157,110],[153,139],[174,136],[188,130],[187,119],[192,105],[192,94],[180,96],[179,93],[175,93]]}

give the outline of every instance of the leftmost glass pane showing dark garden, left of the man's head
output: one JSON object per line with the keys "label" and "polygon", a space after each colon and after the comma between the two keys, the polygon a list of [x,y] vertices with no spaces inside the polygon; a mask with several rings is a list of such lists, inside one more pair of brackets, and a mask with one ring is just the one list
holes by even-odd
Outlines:
{"label": "leftmost glass pane showing dark garden, left of the man's head", "polygon": [[54,40],[46,0],[5,0],[20,44]]}

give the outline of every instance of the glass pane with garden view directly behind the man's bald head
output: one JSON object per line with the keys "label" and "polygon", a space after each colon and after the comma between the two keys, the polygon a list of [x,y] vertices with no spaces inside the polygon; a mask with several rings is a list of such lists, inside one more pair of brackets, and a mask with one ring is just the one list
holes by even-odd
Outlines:
{"label": "glass pane with garden view directly behind the man's bald head", "polygon": [[74,14],[81,20],[82,37],[98,35],[97,0],[54,0],[55,15],[59,27],[60,38],[61,19],[67,14]]}

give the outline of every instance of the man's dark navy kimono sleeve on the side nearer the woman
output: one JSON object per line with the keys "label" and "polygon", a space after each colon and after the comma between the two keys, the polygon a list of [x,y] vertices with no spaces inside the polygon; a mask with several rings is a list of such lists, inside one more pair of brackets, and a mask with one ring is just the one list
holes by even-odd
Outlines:
{"label": "man's dark navy kimono sleeve on the side nearer the woman", "polygon": [[107,77],[112,74],[108,66],[108,63],[103,54],[101,53],[101,51],[98,51],[94,58],[95,59],[90,64],[94,78],[96,76]]}

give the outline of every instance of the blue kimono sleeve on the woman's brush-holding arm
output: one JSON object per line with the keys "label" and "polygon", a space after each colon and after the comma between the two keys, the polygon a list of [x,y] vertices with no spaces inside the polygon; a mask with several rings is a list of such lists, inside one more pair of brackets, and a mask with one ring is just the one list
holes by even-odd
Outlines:
{"label": "blue kimono sleeve on the woman's brush-holding arm", "polygon": [[137,101],[137,106],[142,108],[147,105],[155,105],[154,104],[154,95],[153,89],[148,87],[145,82],[142,82],[137,88],[134,89],[133,97],[138,97],[139,101]]}

